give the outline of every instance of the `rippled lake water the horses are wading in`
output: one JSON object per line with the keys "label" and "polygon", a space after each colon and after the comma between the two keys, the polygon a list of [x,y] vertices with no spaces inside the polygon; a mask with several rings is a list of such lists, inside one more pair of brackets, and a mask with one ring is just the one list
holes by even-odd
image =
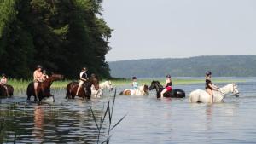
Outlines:
{"label": "rippled lake water the horses are wading in", "polygon": [[[184,99],[157,100],[155,91],[148,96],[117,95],[113,124],[125,119],[111,132],[110,143],[256,143],[256,79],[238,84],[240,97],[227,96],[221,104],[190,104],[189,92],[203,84],[176,85],[184,89]],[[223,86],[224,84],[219,84]],[[117,92],[129,86],[117,87]],[[65,90],[53,90],[54,105],[26,102],[25,93],[2,99],[1,118],[5,119],[5,142],[11,143],[96,143],[98,131],[90,106],[99,120],[105,91],[100,99],[66,100]],[[110,98],[113,100],[113,97]],[[106,139],[108,123],[103,124],[100,141]]]}

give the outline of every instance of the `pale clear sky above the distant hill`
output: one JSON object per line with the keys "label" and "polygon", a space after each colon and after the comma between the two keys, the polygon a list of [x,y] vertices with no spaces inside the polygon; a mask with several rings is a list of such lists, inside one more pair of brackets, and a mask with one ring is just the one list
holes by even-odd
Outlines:
{"label": "pale clear sky above the distant hill", "polygon": [[255,0],[103,0],[107,61],[256,55]]}

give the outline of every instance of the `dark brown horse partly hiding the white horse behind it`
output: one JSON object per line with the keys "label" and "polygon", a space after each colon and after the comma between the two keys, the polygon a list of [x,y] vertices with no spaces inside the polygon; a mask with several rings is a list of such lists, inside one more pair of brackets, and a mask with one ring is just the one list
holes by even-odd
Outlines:
{"label": "dark brown horse partly hiding the white horse behind it", "polygon": [[[90,95],[91,95],[91,85],[94,85],[96,90],[98,90],[100,88],[99,86],[99,78],[96,77],[95,74],[92,74],[89,78],[89,80],[87,80],[86,82],[84,82],[84,84],[82,85],[81,89],[79,90],[79,97],[82,98],[87,98],[90,99]],[[67,84],[67,93],[66,93],[66,99],[74,99],[77,89],[79,87],[79,83],[78,82],[71,82],[69,84]]]}

